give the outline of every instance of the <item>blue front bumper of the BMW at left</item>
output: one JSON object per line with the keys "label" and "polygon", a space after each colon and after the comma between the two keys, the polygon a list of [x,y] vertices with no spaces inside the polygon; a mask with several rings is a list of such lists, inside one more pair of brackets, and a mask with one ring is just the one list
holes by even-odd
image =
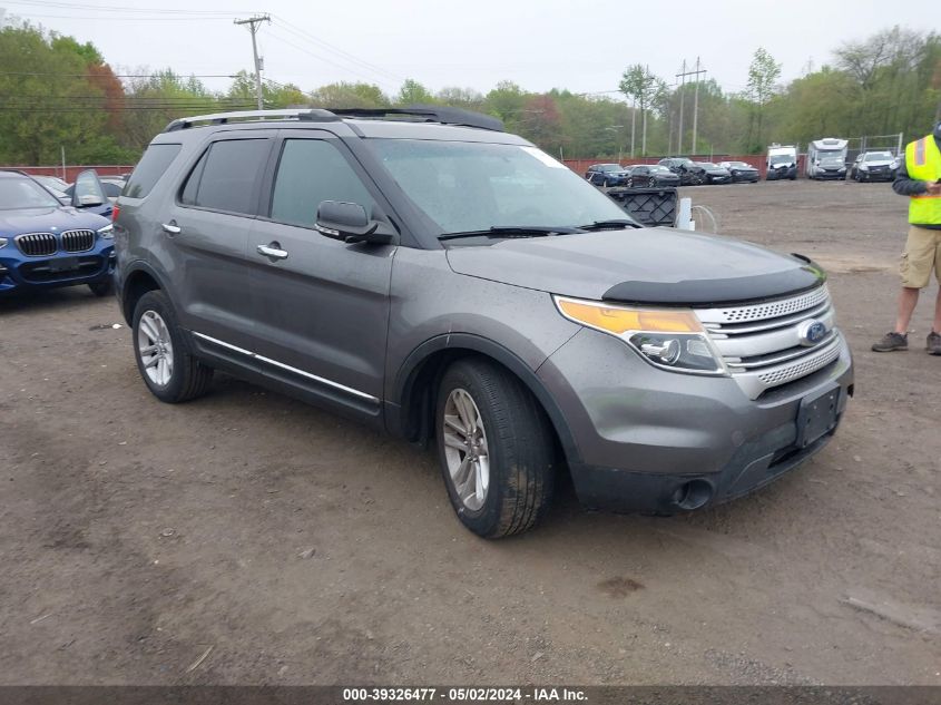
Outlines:
{"label": "blue front bumper of the BMW at left", "polygon": [[14,247],[8,252],[8,247],[0,249],[0,294],[94,284],[115,272],[115,247],[110,239],[96,238],[95,246],[87,252],[57,253],[49,257],[27,257]]}

